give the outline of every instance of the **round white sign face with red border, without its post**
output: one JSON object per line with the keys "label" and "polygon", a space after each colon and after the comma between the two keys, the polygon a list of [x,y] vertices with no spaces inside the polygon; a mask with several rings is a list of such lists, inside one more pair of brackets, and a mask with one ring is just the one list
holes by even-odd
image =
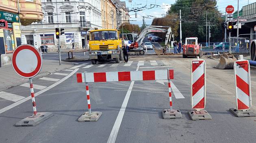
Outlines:
{"label": "round white sign face with red border, without its post", "polygon": [[32,45],[24,44],[15,48],[11,59],[15,72],[24,78],[36,76],[42,68],[41,54]]}

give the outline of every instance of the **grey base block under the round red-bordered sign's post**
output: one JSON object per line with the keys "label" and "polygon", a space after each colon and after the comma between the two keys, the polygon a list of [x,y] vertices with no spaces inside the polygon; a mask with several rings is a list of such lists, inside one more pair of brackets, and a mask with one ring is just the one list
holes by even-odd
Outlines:
{"label": "grey base block under the round red-bordered sign's post", "polygon": [[53,115],[51,112],[38,112],[36,116],[32,115],[20,120],[15,126],[36,126]]}

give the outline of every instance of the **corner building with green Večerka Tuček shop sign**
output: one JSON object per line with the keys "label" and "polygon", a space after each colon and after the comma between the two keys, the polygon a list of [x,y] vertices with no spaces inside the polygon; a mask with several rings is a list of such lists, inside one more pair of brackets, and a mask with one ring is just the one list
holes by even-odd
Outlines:
{"label": "corner building with green Ve\u010derka Tu\u010dek shop sign", "polygon": [[20,25],[42,18],[41,0],[0,0],[1,65],[10,64],[13,50],[21,45]]}

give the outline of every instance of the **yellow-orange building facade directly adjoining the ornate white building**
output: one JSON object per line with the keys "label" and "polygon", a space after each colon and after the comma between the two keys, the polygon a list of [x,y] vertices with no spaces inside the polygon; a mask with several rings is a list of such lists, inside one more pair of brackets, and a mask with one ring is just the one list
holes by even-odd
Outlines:
{"label": "yellow-orange building facade directly adjoining the ornate white building", "polygon": [[102,28],[116,29],[117,28],[117,11],[112,0],[101,0],[102,13]]}

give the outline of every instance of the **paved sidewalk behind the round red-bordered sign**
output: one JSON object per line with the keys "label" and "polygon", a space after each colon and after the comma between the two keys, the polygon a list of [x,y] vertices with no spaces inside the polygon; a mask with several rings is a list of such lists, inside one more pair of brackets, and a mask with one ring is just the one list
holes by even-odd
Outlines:
{"label": "paved sidewalk behind the round red-bordered sign", "polygon": [[[40,73],[34,78],[41,78],[48,74],[52,74],[54,72],[61,71],[73,66],[73,63],[65,61],[61,61],[61,65],[59,65],[59,61],[43,60],[42,69]],[[25,82],[28,82],[28,78],[22,78],[21,76],[17,75],[12,65],[4,65],[0,67],[0,91],[12,86],[23,84]]]}

